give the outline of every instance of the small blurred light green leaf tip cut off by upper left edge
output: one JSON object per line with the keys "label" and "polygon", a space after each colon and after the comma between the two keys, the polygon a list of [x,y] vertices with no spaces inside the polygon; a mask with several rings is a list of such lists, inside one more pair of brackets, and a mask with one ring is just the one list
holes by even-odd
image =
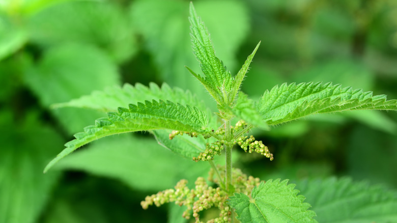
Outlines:
{"label": "small blurred light green leaf tip cut off by upper left edge", "polygon": [[19,50],[27,41],[26,31],[0,11],[0,61]]}

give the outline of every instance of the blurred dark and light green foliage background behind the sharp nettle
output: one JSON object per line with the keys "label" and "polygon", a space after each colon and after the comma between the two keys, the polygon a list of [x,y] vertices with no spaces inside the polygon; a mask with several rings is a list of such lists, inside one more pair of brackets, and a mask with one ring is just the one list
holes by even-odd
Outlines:
{"label": "blurred dark and light green foliage background behind the sharp nettle", "polygon": [[[397,98],[397,1],[193,1],[217,56],[236,73],[259,41],[243,83],[258,98],[283,82],[332,81]],[[105,116],[50,109],[107,86],[167,82],[213,100],[185,69],[188,1],[0,0],[0,223],[184,222],[174,205],[142,210],[147,194],[205,176],[149,134],[109,136],[46,163]],[[260,177],[351,176],[397,188],[397,113],[308,117],[254,131],[274,161],[236,152]],[[220,160],[221,162],[222,160]]]}

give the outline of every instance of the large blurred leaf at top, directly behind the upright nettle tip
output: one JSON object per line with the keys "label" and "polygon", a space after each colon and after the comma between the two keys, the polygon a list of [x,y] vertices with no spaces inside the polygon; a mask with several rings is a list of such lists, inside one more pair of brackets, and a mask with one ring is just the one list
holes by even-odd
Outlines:
{"label": "large blurred leaf at top, directly behind the upright nettle tip", "polygon": [[[162,79],[204,98],[208,94],[203,86],[183,67],[200,69],[191,53],[188,7],[189,3],[184,1],[135,1],[131,5],[131,19],[145,38],[145,46]],[[194,7],[208,26],[217,56],[230,70],[236,69],[236,52],[248,30],[245,5],[238,1],[215,0],[198,1]]]}

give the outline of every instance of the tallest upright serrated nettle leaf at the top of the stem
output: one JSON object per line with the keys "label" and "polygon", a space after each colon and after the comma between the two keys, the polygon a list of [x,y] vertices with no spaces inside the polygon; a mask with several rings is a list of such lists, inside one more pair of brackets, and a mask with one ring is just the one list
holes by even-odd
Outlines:
{"label": "tallest upright serrated nettle leaf at the top of the stem", "polygon": [[193,3],[190,3],[190,36],[193,53],[200,62],[200,67],[205,75],[202,77],[188,68],[189,72],[195,76],[208,92],[215,98],[218,104],[229,104],[226,94],[230,91],[233,78],[223,62],[215,55],[215,50],[210,39],[207,27],[194,10]]}

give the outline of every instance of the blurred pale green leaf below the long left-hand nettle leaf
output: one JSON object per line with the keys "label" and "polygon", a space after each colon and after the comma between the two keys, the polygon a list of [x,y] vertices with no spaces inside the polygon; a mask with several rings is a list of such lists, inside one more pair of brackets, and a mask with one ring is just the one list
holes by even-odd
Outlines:
{"label": "blurred pale green leaf below the long left-hand nettle leaf", "polygon": [[172,188],[182,178],[194,185],[196,178],[206,175],[210,168],[206,162],[196,163],[165,150],[153,138],[127,134],[104,138],[54,166],[119,179],[133,189],[153,191]]}

